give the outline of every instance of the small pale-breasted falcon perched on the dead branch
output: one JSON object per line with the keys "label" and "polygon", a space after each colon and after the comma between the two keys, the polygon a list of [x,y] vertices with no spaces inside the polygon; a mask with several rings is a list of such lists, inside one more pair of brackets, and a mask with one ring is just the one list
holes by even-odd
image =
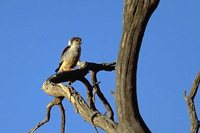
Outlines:
{"label": "small pale-breasted falcon perched on the dead branch", "polygon": [[61,61],[55,70],[56,73],[73,70],[81,56],[81,44],[80,37],[72,37],[68,41],[68,46],[63,50]]}

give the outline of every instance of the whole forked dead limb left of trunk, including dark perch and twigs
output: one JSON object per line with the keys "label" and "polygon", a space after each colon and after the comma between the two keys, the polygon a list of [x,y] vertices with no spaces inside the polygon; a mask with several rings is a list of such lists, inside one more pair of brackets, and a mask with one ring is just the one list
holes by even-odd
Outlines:
{"label": "whole forked dead limb left of trunk, including dark perch and twigs", "polygon": [[[35,126],[30,133],[33,133],[40,126],[47,123],[50,119],[50,111],[54,105],[58,105],[61,113],[62,113],[62,124],[61,124],[61,133],[65,131],[65,112],[62,105],[63,98],[68,99],[72,105],[74,106],[77,113],[79,113],[87,122],[91,123],[95,127],[100,127],[108,133],[114,133],[117,129],[117,123],[113,120],[113,111],[100,91],[100,87],[97,84],[96,73],[99,71],[112,71],[115,70],[115,63],[89,63],[86,62],[83,67],[80,69],[57,73],[50,76],[43,84],[43,90],[47,94],[54,96],[55,100],[50,102],[47,106],[47,114],[46,118],[41,121],[37,126]],[[95,72],[95,75],[92,74],[93,86],[90,82],[85,78],[85,75],[89,73],[89,71]],[[75,82],[76,80],[81,81],[87,88],[87,100],[88,103],[85,102],[84,98],[73,88],[69,86],[65,86],[61,84],[61,82]],[[93,89],[97,88],[97,95],[102,100],[105,105],[109,115],[108,117],[98,111],[95,107],[95,103],[93,101]],[[59,101],[60,100],[60,101]]]}

